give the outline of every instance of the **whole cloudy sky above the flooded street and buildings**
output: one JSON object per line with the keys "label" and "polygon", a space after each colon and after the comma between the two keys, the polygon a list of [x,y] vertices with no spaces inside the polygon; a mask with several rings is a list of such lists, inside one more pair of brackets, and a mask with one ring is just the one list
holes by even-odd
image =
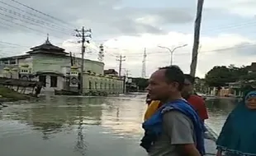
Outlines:
{"label": "whole cloudy sky above the flooded street and buildings", "polygon": [[[26,6],[25,6],[26,5]],[[165,48],[178,48],[173,64],[189,73],[196,0],[0,0],[0,57],[24,54],[29,48],[50,42],[75,56],[81,44],[75,29],[92,29],[85,58],[97,60],[104,46],[105,68],[122,75],[141,76],[144,51],[146,76],[170,65]],[[201,39],[196,76],[203,78],[214,66],[241,67],[256,58],[256,1],[206,0],[201,21]]]}

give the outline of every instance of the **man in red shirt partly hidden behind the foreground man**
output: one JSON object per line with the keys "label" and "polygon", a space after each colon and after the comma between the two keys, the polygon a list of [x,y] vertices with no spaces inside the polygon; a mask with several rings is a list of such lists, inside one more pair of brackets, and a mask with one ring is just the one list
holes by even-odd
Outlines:
{"label": "man in red shirt partly hidden behind the foreground man", "polygon": [[194,82],[194,77],[188,74],[185,75],[182,95],[183,98],[186,99],[187,102],[190,103],[192,107],[196,110],[199,117],[201,118],[201,121],[204,122],[206,119],[208,119],[206,104],[204,99],[202,99],[200,96],[196,94],[193,94]]}

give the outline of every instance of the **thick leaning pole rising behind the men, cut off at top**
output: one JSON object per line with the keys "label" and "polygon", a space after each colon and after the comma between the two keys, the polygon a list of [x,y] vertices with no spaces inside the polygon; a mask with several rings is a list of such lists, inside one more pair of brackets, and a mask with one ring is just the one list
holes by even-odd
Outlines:
{"label": "thick leaning pole rising behind the men, cut off at top", "polygon": [[197,17],[195,21],[194,28],[194,44],[192,49],[192,62],[190,65],[190,75],[196,76],[197,70],[197,55],[198,55],[198,46],[200,40],[200,27],[201,27],[201,13],[204,0],[197,0]]}

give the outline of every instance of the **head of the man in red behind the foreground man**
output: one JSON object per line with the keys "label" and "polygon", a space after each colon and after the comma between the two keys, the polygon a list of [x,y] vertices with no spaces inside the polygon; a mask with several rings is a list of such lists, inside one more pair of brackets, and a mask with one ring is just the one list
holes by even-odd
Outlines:
{"label": "head of the man in red behind the foreground man", "polygon": [[183,86],[183,96],[186,97],[189,94],[192,94],[194,82],[195,82],[195,78],[193,76],[190,76],[189,74],[185,74],[185,80],[184,80],[184,86]]}

